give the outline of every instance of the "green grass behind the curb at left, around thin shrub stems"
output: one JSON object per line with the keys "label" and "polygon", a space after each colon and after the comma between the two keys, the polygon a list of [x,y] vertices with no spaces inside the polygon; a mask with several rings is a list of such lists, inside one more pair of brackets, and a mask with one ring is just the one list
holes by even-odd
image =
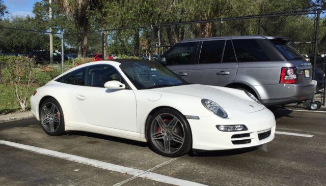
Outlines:
{"label": "green grass behind the curb at left, around thin shrub stems", "polygon": [[[37,87],[31,87],[28,97],[27,109],[31,109],[30,97]],[[0,84],[0,114],[21,111],[15,95],[15,86],[10,84]]]}

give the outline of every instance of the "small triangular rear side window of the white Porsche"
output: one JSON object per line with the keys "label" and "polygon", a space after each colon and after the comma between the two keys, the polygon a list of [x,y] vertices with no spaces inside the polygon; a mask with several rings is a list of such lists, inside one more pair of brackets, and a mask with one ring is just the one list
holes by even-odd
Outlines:
{"label": "small triangular rear side window of the white Porsche", "polygon": [[57,81],[74,85],[85,85],[85,68],[73,71]]}

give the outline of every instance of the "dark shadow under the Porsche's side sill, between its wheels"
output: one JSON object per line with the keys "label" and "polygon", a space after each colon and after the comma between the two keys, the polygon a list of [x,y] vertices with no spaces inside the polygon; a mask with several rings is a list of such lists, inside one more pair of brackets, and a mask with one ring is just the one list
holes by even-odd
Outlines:
{"label": "dark shadow under the Porsche's side sill, between its wheels", "polygon": [[146,142],[134,141],[134,140],[118,138],[118,137],[114,137],[114,136],[106,136],[106,135],[102,135],[102,134],[82,132],[82,131],[69,131],[67,133],[67,135],[68,136],[86,136],[86,137],[103,139],[103,140],[108,140],[108,141],[115,141],[115,142],[119,142],[119,143],[126,143],[126,144],[130,144],[130,145],[141,146],[141,147],[148,146],[148,144]]}

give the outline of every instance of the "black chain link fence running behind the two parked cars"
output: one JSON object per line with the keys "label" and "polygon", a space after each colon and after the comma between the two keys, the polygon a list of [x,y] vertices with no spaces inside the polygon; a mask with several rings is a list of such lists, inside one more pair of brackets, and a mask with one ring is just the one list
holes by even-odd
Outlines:
{"label": "black chain link fence running behind the two parked cars", "polygon": [[[325,15],[325,10],[306,10],[98,29],[87,33],[48,33],[0,27],[0,55],[35,57],[37,63],[41,65],[62,63],[61,68],[64,71],[64,66],[71,68],[69,64],[78,57],[89,57],[90,60],[116,57],[156,60],[172,45],[186,39],[252,35],[282,36],[289,38],[291,45],[313,64],[318,87],[316,99],[324,105]],[[53,38],[53,61],[49,53],[50,35]],[[61,40],[62,36],[63,40]],[[57,67],[59,68],[58,65]]]}

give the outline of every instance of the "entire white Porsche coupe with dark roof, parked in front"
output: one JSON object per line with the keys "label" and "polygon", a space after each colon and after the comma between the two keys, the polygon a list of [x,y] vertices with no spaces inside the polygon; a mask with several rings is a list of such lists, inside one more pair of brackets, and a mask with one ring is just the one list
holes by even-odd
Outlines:
{"label": "entire white Porsche coupe with dark roof, parked in front", "polygon": [[275,136],[274,114],[249,92],[189,84],[152,61],[80,65],[38,88],[31,107],[48,135],[87,131],[149,142],[167,157]]}

